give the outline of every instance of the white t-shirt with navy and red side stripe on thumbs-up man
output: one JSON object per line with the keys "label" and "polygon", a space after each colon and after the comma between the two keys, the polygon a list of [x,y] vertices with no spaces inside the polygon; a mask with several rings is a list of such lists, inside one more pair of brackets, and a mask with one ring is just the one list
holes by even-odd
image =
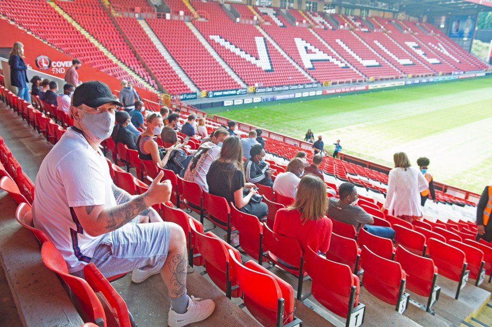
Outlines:
{"label": "white t-shirt with navy and red side stripe on thumbs-up man", "polygon": [[82,134],[67,129],[39,167],[34,189],[34,227],[61,252],[70,273],[88,264],[104,235],[88,235],[73,207],[116,206],[105,157]]}

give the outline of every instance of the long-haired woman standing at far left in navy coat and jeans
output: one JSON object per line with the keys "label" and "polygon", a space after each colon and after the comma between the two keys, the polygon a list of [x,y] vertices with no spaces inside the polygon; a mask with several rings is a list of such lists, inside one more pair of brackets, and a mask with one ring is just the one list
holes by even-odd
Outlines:
{"label": "long-haired woman standing at far left in navy coat and jeans", "polygon": [[17,87],[17,96],[27,102],[31,101],[29,88],[27,86],[27,69],[29,68],[24,62],[24,45],[20,42],[15,42],[12,50],[10,50],[10,84]]}

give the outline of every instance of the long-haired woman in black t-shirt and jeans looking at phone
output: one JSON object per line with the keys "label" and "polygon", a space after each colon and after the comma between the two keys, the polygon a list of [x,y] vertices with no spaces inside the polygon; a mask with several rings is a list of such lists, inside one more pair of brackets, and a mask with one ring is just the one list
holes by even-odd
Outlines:
{"label": "long-haired woman in black t-shirt and jeans looking at phone", "polygon": [[[209,193],[226,198],[234,203],[237,209],[262,219],[268,213],[265,203],[253,203],[251,198],[256,194],[256,186],[245,183],[242,165],[242,147],[239,137],[228,137],[220,149],[220,158],[215,160],[207,173]],[[243,195],[243,189],[248,194]]]}

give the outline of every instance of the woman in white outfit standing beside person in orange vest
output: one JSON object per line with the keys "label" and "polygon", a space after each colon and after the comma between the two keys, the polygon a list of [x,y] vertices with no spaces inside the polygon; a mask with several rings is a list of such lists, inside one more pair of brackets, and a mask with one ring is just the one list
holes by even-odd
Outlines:
{"label": "woman in white outfit standing beside person in orange vest", "polygon": [[382,210],[387,208],[389,214],[408,222],[420,219],[420,192],[429,184],[419,169],[410,166],[405,152],[397,152],[393,160],[395,168],[389,171],[388,192]]}

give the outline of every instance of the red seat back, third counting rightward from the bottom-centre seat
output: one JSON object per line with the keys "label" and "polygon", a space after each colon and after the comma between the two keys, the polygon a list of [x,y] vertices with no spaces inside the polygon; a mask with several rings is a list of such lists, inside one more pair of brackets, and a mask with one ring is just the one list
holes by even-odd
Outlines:
{"label": "red seat back, third counting rightward from the bottom-centre seat", "polygon": [[405,272],[399,263],[374,254],[362,247],[362,269],[364,269],[364,288],[380,300],[396,305]]}

